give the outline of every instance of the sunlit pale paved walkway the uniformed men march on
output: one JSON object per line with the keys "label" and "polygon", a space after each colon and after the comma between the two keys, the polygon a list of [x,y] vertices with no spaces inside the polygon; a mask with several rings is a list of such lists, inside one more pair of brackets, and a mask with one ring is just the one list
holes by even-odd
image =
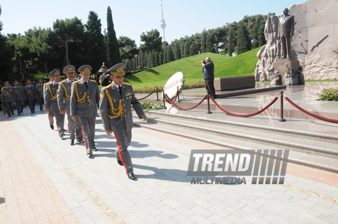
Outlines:
{"label": "sunlit pale paved walkway the uniformed men march on", "polygon": [[0,223],[338,223],[336,173],[288,164],[284,185],[194,185],[190,151],[222,147],[134,128],[131,181],[99,117],[91,158],[44,111],[1,114],[0,130]]}

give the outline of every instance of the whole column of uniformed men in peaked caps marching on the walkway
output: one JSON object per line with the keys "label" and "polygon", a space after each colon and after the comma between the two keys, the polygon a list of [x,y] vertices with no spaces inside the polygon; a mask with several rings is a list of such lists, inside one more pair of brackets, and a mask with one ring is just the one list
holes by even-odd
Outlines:
{"label": "whole column of uniformed men in peaked caps marching on the walkway", "polygon": [[[97,151],[94,139],[97,104],[99,104],[103,129],[108,135],[114,133],[116,138],[117,150],[114,156],[117,163],[124,166],[129,179],[135,180],[133,164],[128,152],[133,128],[131,105],[139,118],[146,121],[147,117],[135,97],[133,87],[123,83],[125,64],[120,63],[107,69],[107,65],[103,62],[101,68],[104,74],[101,82],[108,80],[109,83],[107,86],[104,86],[105,83],[100,83],[103,84],[101,91],[97,82],[90,79],[92,66],[82,65],[78,68],[80,74],[77,76],[75,66],[67,65],[63,69],[67,79],[62,82],[60,82],[59,69],[54,69],[48,74],[50,82],[44,85],[42,80],[38,80],[36,86],[31,85],[31,81],[27,80],[25,87],[18,86],[17,81],[14,82],[15,87],[9,87],[9,82],[5,82],[5,87],[1,90],[1,102],[6,104],[8,116],[14,115],[14,102],[18,114],[22,113],[26,100],[31,113],[34,113],[33,99],[38,97],[40,103],[44,102],[52,130],[54,129],[53,117],[55,117],[60,138],[65,135],[62,116],[65,117],[66,113],[70,144],[74,144],[75,138],[77,142],[85,143],[88,156],[91,156],[93,151]],[[107,79],[109,75],[110,78]]]}

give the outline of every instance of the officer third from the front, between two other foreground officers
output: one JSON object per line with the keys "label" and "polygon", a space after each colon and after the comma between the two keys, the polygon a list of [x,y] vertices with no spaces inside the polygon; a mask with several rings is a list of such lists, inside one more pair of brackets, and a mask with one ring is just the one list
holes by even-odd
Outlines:
{"label": "officer third from the front, between two other foreground officers", "polygon": [[[70,141],[71,145],[74,144],[75,133],[76,133],[76,140],[77,142],[83,143],[82,137],[82,130],[81,125],[78,120],[73,120],[70,115],[70,97],[71,97],[71,87],[72,83],[78,81],[74,79],[75,76],[75,66],[74,65],[67,65],[64,70],[62,71],[66,74],[67,79],[62,81],[59,85],[59,89],[57,91],[57,103],[59,106],[59,111],[61,114],[67,113],[68,119],[68,130],[70,133]],[[76,74],[77,75],[77,74]]]}

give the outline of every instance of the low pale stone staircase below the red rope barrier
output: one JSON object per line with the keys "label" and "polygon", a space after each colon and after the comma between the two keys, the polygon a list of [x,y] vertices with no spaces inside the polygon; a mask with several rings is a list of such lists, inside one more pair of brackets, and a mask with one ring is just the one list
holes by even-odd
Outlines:
{"label": "low pale stone staircase below the red rope barrier", "polygon": [[[238,150],[290,150],[288,161],[338,173],[338,136],[247,123],[146,112],[134,125]],[[212,149],[212,146],[210,147]]]}

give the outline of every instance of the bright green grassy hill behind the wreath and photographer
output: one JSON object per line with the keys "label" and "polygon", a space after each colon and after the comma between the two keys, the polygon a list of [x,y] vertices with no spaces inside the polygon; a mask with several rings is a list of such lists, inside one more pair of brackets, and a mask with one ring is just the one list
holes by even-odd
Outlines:
{"label": "bright green grassy hill behind the wreath and photographer", "polygon": [[124,82],[132,84],[134,88],[164,86],[168,79],[178,71],[183,72],[185,83],[204,81],[200,61],[206,57],[210,57],[215,64],[215,78],[253,76],[258,62],[256,55],[259,49],[260,47],[236,57],[213,53],[194,55],[125,77]]}

